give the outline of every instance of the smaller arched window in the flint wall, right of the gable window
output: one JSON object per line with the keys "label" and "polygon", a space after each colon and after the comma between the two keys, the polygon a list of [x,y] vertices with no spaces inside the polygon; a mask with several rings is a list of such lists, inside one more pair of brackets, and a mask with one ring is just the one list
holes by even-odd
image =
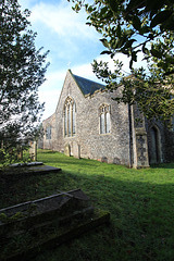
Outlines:
{"label": "smaller arched window in the flint wall, right of the gable window", "polygon": [[111,133],[111,105],[102,104],[99,108],[100,114],[100,134]]}

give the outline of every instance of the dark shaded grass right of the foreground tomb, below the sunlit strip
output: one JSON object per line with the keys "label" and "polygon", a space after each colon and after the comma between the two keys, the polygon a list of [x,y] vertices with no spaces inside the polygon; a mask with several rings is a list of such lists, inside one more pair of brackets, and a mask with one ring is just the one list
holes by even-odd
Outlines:
{"label": "dark shaded grass right of the foreground tomb, below the sunlit strip", "polygon": [[86,176],[78,187],[98,208],[110,211],[111,226],[98,228],[36,260],[167,260],[174,257],[174,186]]}

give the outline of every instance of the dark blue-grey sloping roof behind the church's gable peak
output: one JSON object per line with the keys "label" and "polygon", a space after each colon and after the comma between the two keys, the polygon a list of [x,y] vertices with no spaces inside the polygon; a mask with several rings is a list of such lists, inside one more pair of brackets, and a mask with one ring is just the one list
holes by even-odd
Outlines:
{"label": "dark blue-grey sloping roof behind the church's gable peak", "polygon": [[78,87],[80,88],[84,95],[94,95],[96,90],[99,90],[99,89],[103,90],[105,88],[104,85],[98,84],[90,79],[79,77],[77,75],[74,75],[73,73],[72,73],[72,76],[74,77],[76,84],[78,85]]}

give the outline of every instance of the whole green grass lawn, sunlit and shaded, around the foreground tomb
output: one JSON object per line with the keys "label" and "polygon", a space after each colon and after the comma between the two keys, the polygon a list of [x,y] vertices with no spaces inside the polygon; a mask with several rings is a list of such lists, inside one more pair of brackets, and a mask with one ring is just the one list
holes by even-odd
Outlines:
{"label": "whole green grass lawn, sunlit and shaded, around the foreground tomb", "polygon": [[174,260],[174,163],[133,170],[44,150],[38,161],[62,172],[20,181],[0,177],[0,208],[80,188],[95,207],[111,213],[111,224],[33,261]]}

